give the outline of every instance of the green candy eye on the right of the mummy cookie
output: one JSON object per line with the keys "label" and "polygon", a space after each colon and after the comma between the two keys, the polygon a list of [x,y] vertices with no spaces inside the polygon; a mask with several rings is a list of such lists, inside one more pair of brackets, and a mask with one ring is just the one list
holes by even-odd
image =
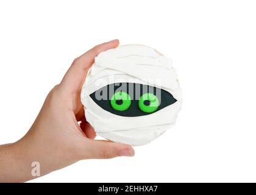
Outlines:
{"label": "green candy eye on the right of the mummy cookie", "polygon": [[145,93],[140,97],[138,104],[142,112],[152,113],[157,110],[159,106],[159,100],[154,94]]}

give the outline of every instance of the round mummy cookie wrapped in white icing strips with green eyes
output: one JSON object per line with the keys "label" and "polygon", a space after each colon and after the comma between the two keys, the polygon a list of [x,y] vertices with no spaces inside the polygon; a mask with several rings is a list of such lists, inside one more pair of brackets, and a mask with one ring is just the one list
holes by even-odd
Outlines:
{"label": "round mummy cookie wrapped in white icing strips with green eyes", "polygon": [[174,126],[182,93],[171,59],[130,44],[95,58],[81,101],[97,135],[140,146]]}

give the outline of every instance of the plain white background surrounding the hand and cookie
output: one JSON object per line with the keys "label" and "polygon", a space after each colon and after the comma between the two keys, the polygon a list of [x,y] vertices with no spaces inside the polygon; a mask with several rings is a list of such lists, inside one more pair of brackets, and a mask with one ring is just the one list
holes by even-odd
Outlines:
{"label": "plain white background surrounding the hand and cookie", "polygon": [[177,124],[135,157],[32,182],[256,182],[255,1],[1,1],[0,144],[20,139],[73,59],[119,38],[174,62]]}

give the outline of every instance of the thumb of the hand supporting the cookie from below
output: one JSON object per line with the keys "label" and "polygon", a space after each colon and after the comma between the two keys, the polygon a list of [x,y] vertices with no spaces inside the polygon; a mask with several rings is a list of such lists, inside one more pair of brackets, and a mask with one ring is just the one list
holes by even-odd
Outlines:
{"label": "thumb of the hand supporting the cookie from below", "polygon": [[115,157],[132,157],[135,152],[132,146],[121,143],[114,143],[112,141],[104,140],[87,140],[87,154],[85,158],[115,158]]}

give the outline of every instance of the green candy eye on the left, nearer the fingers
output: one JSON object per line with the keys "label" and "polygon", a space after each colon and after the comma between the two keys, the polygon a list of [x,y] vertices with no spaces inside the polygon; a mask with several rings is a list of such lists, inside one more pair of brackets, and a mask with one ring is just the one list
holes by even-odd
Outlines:
{"label": "green candy eye on the left, nearer the fingers", "polygon": [[123,91],[116,92],[110,99],[112,108],[118,111],[127,110],[130,107],[130,103],[131,101],[129,94]]}

